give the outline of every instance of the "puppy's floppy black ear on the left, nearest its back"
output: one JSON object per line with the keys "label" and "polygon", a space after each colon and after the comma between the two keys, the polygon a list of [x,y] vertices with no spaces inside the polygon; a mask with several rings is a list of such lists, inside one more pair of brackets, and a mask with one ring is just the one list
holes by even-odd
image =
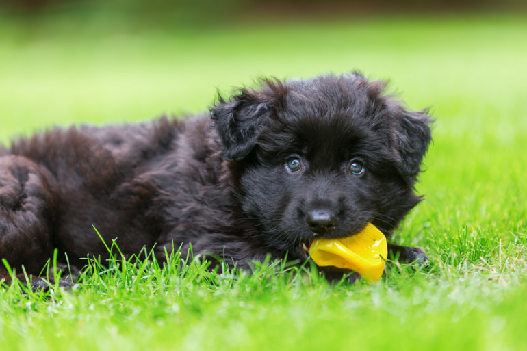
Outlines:
{"label": "puppy's floppy black ear on the left, nearest its back", "polygon": [[224,158],[233,161],[246,157],[269,118],[272,107],[267,96],[242,90],[229,101],[221,97],[211,108],[211,118],[224,148]]}

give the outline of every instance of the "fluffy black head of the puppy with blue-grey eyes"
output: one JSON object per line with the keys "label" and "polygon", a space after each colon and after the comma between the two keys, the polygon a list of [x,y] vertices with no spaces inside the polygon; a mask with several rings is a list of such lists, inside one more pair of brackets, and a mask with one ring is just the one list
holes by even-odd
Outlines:
{"label": "fluffy black head of the puppy with blue-grey eyes", "polygon": [[266,80],[211,109],[243,210],[268,246],[303,257],[316,237],[368,222],[388,235],[419,202],[430,118],[384,88],[358,73]]}

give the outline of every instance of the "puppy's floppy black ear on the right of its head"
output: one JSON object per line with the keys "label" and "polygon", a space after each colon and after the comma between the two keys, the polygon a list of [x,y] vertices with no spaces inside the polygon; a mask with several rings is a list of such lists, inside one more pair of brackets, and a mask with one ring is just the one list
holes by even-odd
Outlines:
{"label": "puppy's floppy black ear on the right of its head", "polygon": [[432,140],[430,130],[431,119],[427,111],[400,111],[397,125],[397,147],[402,159],[404,173],[415,177],[420,171],[420,165],[428,144]]}

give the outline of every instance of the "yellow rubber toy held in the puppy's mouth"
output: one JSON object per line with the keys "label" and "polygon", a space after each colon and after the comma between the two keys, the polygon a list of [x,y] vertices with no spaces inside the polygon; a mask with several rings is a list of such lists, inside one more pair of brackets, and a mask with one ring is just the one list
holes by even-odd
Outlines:
{"label": "yellow rubber toy held in the puppy's mouth", "polygon": [[368,223],[361,232],[350,237],[313,240],[309,253],[318,266],[347,268],[376,282],[383,275],[388,248],[383,233]]}

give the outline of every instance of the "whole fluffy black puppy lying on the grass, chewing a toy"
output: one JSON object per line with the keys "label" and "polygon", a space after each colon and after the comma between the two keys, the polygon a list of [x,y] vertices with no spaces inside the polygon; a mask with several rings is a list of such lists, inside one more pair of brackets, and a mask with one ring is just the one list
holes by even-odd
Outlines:
{"label": "whole fluffy black puppy lying on the grass, chewing a toy", "polygon": [[[305,260],[316,237],[372,222],[385,235],[419,201],[430,118],[358,73],[266,80],[211,118],[53,129],[0,148],[0,258],[37,275],[53,254],[82,265],[154,248],[246,267]],[[407,261],[418,248],[389,246]],[[8,272],[0,268],[0,278]]]}

